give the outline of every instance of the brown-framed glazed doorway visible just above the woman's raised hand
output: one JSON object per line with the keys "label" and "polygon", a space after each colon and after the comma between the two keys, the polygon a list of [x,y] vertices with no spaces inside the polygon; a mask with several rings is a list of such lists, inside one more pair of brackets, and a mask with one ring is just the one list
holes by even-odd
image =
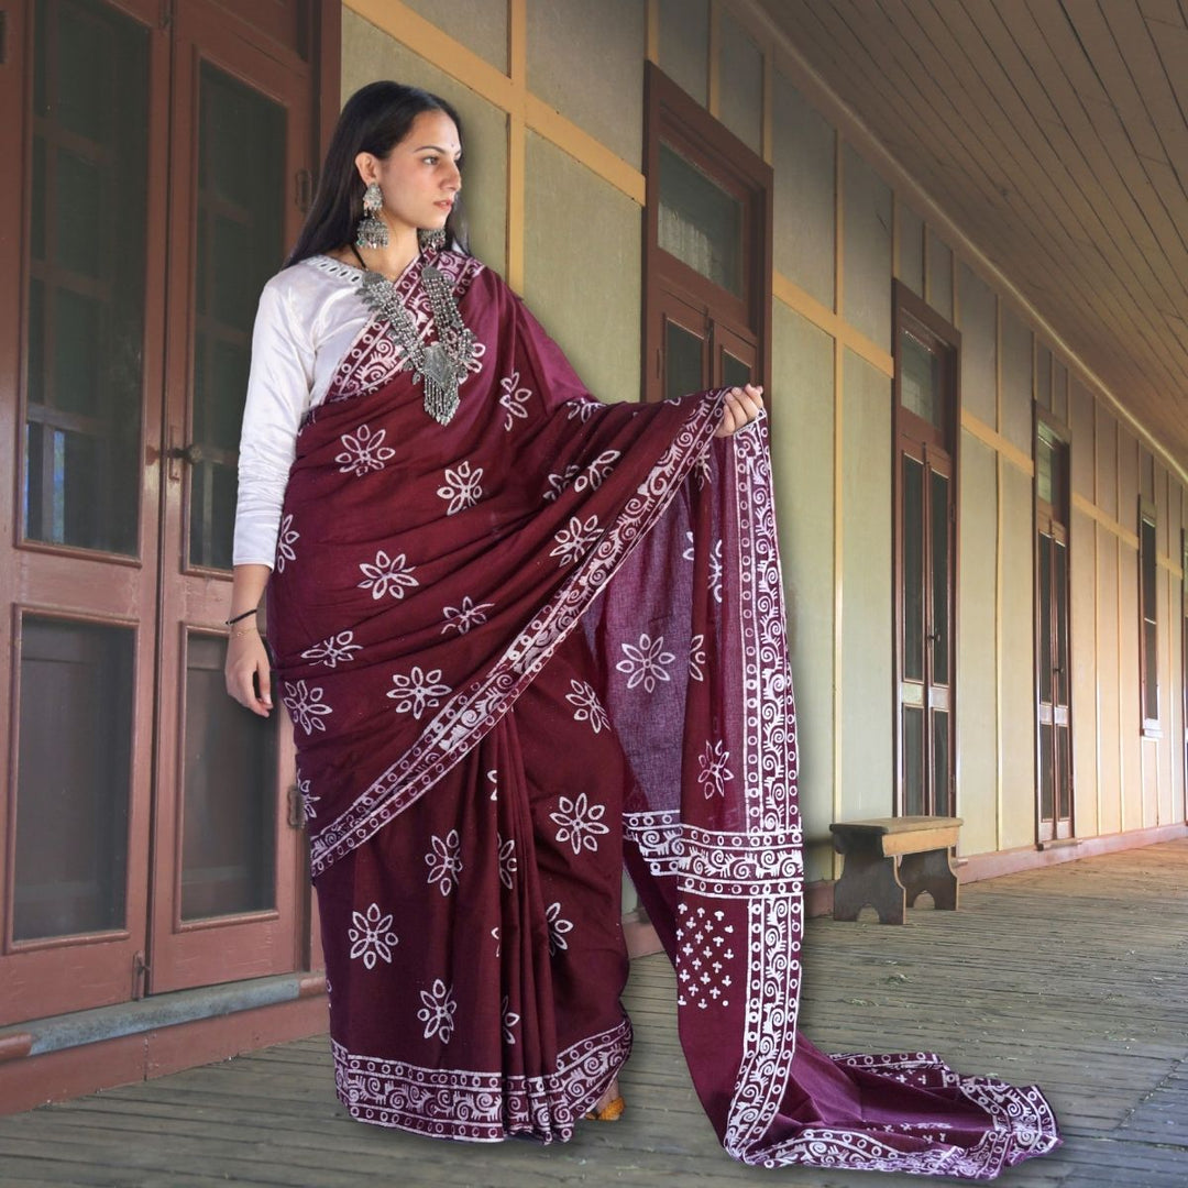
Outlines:
{"label": "brown-framed glazed doorway visible just above the woman's raised hand", "polygon": [[770,371],[771,168],[649,64],[644,398]]}

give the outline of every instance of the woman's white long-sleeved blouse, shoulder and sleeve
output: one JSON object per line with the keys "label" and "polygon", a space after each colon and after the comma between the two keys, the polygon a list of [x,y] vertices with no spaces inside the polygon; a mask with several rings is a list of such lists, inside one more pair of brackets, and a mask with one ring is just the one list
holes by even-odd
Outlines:
{"label": "woman's white long-sleeved blouse, shoulder and sleeve", "polygon": [[297,430],[371,318],[362,272],[315,255],[278,272],[260,293],[252,333],[233,563],[272,568]]}

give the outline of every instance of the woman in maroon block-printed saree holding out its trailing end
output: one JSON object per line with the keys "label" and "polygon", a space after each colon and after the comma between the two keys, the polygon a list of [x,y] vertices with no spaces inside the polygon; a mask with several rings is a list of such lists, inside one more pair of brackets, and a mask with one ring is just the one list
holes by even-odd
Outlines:
{"label": "woman in maroon block-printed saree holding out its trailing end", "polygon": [[461,152],[436,96],[356,93],[253,343],[227,683],[271,710],[267,584],[342,1101],[473,1140],[614,1116],[626,859],[732,1155],[986,1178],[1050,1150],[1036,1089],[797,1037],[762,392],[594,400],[467,254]]}

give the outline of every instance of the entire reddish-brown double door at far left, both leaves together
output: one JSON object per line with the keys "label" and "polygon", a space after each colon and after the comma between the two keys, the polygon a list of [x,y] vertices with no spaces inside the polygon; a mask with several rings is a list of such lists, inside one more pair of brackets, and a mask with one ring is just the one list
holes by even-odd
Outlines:
{"label": "entire reddish-brown double door at far left, both leaves together", "polygon": [[223,693],[222,620],[331,7],[4,8],[0,1025],[305,960],[287,733]]}

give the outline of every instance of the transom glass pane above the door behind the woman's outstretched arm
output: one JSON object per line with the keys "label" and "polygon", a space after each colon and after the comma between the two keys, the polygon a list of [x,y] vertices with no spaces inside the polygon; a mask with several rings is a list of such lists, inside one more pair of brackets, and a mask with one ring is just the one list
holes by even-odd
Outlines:
{"label": "transom glass pane above the door behind the woman's outstretched arm", "polygon": [[742,296],[742,203],[664,143],[658,242],[708,280]]}

